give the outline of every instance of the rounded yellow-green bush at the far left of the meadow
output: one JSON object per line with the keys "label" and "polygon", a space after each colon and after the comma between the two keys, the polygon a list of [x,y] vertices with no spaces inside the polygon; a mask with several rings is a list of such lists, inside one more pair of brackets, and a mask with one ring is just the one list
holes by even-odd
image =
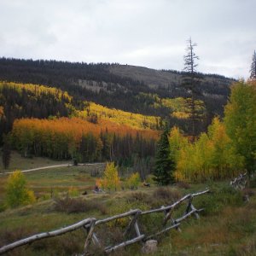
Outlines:
{"label": "rounded yellow-green bush at the far left of the meadow", "polygon": [[9,207],[27,205],[36,201],[32,190],[26,189],[26,178],[20,171],[9,175],[6,185],[6,203]]}

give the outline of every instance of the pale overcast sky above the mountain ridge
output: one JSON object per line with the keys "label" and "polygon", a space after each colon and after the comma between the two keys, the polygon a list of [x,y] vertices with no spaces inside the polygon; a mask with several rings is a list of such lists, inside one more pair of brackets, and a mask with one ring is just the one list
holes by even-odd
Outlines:
{"label": "pale overcast sky above the mountain ridge", "polygon": [[0,0],[0,56],[119,62],[248,77],[256,0]]}

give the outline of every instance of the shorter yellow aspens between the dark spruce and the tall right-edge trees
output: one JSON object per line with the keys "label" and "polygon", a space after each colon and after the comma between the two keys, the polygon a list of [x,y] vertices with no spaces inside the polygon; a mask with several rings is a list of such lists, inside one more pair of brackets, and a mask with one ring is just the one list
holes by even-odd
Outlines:
{"label": "shorter yellow aspens between the dark spruce and the tall right-edge trees", "polygon": [[232,147],[224,124],[213,119],[207,133],[190,143],[177,128],[170,133],[172,158],[176,162],[176,179],[204,182],[209,178],[235,177],[241,172],[242,158]]}

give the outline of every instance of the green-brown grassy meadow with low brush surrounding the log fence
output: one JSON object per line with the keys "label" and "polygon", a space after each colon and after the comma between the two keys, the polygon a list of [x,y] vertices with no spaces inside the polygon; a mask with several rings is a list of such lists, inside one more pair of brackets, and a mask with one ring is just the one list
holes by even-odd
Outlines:
{"label": "green-brown grassy meadow with low brush surrounding the log fence", "polygon": [[[33,159],[34,160],[34,159]],[[30,161],[30,160],[29,160]],[[34,160],[35,161],[35,160]],[[41,162],[40,162],[41,163]],[[28,164],[29,165],[29,164]],[[25,165],[24,165],[25,166]],[[249,202],[244,202],[242,192],[230,188],[229,181],[218,183],[179,183],[175,186],[119,190],[113,193],[94,194],[95,169],[104,166],[64,166],[27,172],[29,189],[37,195],[38,202],[26,207],[3,209],[0,212],[0,246],[38,232],[55,230],[83,218],[107,218],[113,214],[140,208],[147,210],[172,204],[183,195],[206,188],[212,193],[196,197],[196,208],[205,208],[201,218],[189,218],[181,224],[182,232],[172,230],[157,237],[159,247],[154,255],[255,255],[256,253],[256,189],[247,189]],[[1,205],[4,201],[4,184],[7,176],[0,176]],[[75,188],[77,193],[67,191]],[[82,195],[87,191],[87,195]],[[52,198],[51,198],[52,196]],[[182,216],[185,205],[174,211],[174,218]],[[143,234],[161,230],[163,213],[154,213],[139,219]],[[128,218],[96,227],[96,234],[103,246],[121,241]],[[74,255],[81,253],[84,230],[76,230],[63,236],[36,241],[29,246],[15,249],[8,255]],[[103,242],[104,241],[104,242]],[[96,253],[90,246],[90,252]],[[97,252],[97,255],[101,253]],[[141,245],[135,244],[113,255],[143,255]]]}

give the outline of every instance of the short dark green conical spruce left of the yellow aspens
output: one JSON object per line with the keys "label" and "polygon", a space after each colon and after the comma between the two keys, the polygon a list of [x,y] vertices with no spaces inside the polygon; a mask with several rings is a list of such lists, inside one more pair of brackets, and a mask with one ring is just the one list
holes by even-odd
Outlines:
{"label": "short dark green conical spruce left of the yellow aspens", "polygon": [[154,181],[159,185],[174,183],[175,163],[171,158],[169,131],[162,132],[155,156]]}

